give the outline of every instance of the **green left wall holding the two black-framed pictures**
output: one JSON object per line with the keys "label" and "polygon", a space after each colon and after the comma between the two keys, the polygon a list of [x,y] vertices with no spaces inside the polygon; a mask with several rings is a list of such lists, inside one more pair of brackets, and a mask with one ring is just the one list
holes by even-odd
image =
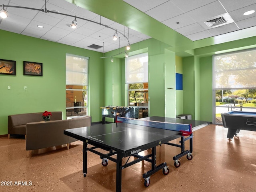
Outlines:
{"label": "green left wall holding the two black-framed pictures", "polygon": [[[0,74],[0,135],[8,133],[11,114],[62,111],[66,118],[66,53],[90,58],[88,114],[92,122],[101,121],[99,109],[104,104],[101,53],[4,30],[0,30],[0,36],[0,59],[16,61],[16,76]],[[23,61],[43,63],[43,76],[24,76]]]}

